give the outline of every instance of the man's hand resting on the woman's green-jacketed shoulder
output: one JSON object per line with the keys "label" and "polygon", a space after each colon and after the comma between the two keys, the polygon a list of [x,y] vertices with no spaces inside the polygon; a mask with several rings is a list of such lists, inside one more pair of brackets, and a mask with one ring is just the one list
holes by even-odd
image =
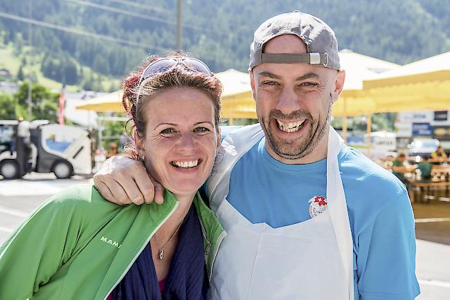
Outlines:
{"label": "man's hand resting on the woman's green-jacketed shoulder", "polygon": [[144,164],[126,156],[112,156],[93,176],[103,198],[118,205],[163,203],[164,187],[147,173]]}

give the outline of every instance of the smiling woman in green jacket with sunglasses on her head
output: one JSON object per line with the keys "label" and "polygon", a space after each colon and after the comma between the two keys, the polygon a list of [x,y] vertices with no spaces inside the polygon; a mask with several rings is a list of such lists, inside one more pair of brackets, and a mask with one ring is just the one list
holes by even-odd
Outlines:
{"label": "smiling woman in green jacket with sunglasses on her head", "polygon": [[163,205],[118,207],[87,185],[53,196],[0,248],[0,299],[206,297],[226,233],[197,189],[219,149],[222,86],[203,62],[171,54],[123,91],[129,155],[165,187]]}

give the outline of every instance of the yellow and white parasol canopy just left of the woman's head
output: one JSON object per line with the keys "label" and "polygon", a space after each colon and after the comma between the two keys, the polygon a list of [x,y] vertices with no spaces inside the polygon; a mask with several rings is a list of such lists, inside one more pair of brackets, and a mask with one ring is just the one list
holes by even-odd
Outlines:
{"label": "yellow and white parasol canopy just left of the woman's head", "polygon": [[119,90],[87,100],[82,104],[76,105],[75,109],[97,111],[98,113],[125,113],[121,99],[122,91]]}

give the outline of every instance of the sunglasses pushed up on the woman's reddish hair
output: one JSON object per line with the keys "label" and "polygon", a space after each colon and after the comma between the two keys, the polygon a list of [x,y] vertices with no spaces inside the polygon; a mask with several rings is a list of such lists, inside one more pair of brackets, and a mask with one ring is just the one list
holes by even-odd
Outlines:
{"label": "sunglasses pushed up on the woman's reddish hair", "polygon": [[141,75],[141,79],[139,80],[139,84],[141,84],[145,79],[150,78],[156,74],[164,73],[165,71],[170,70],[177,64],[183,64],[186,68],[204,73],[208,76],[213,75],[210,69],[204,62],[201,62],[199,59],[195,59],[192,57],[177,57],[177,58],[161,58],[157,59],[145,68],[144,72]]}

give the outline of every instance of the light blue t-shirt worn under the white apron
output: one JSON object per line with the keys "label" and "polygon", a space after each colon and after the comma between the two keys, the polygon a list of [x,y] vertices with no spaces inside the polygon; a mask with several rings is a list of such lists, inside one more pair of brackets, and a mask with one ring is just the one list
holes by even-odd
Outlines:
{"label": "light blue t-shirt worn under the white apron", "polygon": [[[228,201],[251,223],[282,227],[308,220],[308,200],[326,196],[326,159],[285,165],[267,153],[264,141],[236,163]],[[350,147],[343,146],[338,160],[353,238],[354,299],[414,299],[420,293],[414,217],[404,185]]]}

